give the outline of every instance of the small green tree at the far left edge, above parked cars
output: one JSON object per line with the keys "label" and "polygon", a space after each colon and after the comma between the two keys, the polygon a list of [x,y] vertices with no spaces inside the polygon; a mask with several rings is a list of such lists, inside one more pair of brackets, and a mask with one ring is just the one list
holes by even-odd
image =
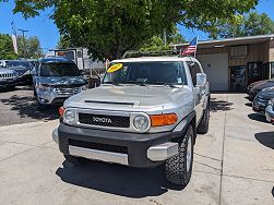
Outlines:
{"label": "small green tree at the far left edge, above parked cars", "polygon": [[13,60],[17,56],[13,50],[11,36],[8,34],[0,34],[0,59]]}

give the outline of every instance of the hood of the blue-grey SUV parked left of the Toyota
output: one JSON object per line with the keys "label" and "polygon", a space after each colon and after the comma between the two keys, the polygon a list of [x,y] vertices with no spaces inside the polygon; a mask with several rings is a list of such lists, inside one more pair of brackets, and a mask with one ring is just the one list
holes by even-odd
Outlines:
{"label": "hood of the blue-grey SUV parked left of the Toyota", "polygon": [[83,76],[39,76],[37,83],[44,85],[85,85],[87,81]]}

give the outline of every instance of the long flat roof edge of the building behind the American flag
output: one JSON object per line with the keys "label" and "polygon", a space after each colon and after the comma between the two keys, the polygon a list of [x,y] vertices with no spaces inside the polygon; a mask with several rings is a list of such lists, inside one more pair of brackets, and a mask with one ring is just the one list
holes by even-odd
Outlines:
{"label": "long flat roof edge of the building behind the American flag", "polygon": [[[238,45],[249,45],[249,44],[261,44],[265,43],[269,39],[274,39],[274,34],[269,35],[258,35],[258,36],[245,36],[236,38],[226,38],[218,40],[201,40],[199,41],[199,47],[210,48],[210,47],[224,47],[224,46],[238,46]],[[171,44],[172,47],[186,47],[189,43],[183,44]]]}

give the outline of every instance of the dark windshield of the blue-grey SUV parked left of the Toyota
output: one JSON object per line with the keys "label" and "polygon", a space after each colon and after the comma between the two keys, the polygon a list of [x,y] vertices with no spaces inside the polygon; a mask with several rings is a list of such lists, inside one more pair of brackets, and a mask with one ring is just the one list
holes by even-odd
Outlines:
{"label": "dark windshield of the blue-grey SUV parked left of the Toyota", "polygon": [[40,76],[78,76],[80,71],[74,63],[44,63],[40,65]]}

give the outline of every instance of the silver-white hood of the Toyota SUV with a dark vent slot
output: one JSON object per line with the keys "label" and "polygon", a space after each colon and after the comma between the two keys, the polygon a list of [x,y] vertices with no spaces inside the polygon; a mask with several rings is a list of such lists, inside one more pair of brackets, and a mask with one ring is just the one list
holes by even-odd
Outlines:
{"label": "silver-white hood of the Toyota SUV with a dark vent slot", "polygon": [[178,100],[191,96],[190,88],[171,88],[168,86],[112,86],[102,85],[72,96],[65,101],[65,107],[111,108],[152,108],[165,105],[171,106]]}

